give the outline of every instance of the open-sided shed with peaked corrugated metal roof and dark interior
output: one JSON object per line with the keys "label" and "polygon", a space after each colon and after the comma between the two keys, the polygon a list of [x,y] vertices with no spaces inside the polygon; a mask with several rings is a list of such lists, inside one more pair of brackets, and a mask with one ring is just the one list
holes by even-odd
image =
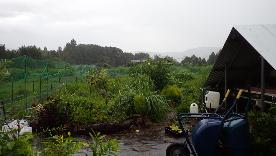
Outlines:
{"label": "open-sided shed with peaked corrugated metal roof and dark interior", "polygon": [[232,28],[204,86],[226,93],[234,85],[246,91],[250,82],[264,112],[265,103],[276,96],[275,69],[276,24],[238,25]]}

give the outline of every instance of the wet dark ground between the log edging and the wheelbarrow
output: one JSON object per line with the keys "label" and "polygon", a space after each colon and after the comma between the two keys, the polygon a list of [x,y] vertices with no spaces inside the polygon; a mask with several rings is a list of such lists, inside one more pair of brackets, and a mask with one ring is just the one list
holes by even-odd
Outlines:
{"label": "wet dark ground between the log edging and the wheelbarrow", "polygon": [[[167,147],[174,142],[184,142],[185,137],[174,138],[173,136],[165,134],[164,127],[167,125],[155,125],[146,129],[138,129],[139,132],[135,132],[136,129],[127,130],[121,133],[108,134],[106,138],[117,138],[121,143],[121,149],[123,149],[123,155],[165,155]],[[186,129],[189,125],[185,124]],[[189,132],[189,139],[190,138]],[[72,136],[83,142],[92,143],[90,136]],[[81,151],[76,152],[75,155],[85,156],[85,154],[92,155],[89,147],[83,147]],[[120,154],[119,154],[120,155]]]}

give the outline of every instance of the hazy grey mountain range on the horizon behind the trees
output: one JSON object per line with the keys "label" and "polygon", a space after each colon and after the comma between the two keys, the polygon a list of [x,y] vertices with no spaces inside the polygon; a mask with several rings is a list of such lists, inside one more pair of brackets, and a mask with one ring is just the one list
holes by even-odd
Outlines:
{"label": "hazy grey mountain range on the horizon behind the trees", "polygon": [[145,52],[145,51],[135,51],[131,52],[132,54],[139,53],[139,52],[144,52],[148,53],[150,57],[153,57],[155,54],[161,55],[161,56],[169,56],[169,57],[174,57],[178,62],[181,62],[181,58],[184,58],[185,56],[191,57],[193,54],[195,54],[196,57],[201,57],[201,59],[205,58],[207,61],[209,58],[209,55],[212,52],[217,53],[222,47],[198,47],[198,48],[193,48],[193,49],[188,49],[185,50],[184,52],[165,52],[165,53],[160,53],[160,52]]}

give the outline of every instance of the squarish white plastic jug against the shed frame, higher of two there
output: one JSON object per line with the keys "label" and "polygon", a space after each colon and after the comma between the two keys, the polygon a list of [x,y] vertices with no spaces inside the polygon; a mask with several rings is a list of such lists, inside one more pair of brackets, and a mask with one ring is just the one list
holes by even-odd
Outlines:
{"label": "squarish white plastic jug against the shed frame, higher of two there", "polygon": [[220,105],[220,93],[216,91],[207,91],[205,95],[206,107],[216,109]]}

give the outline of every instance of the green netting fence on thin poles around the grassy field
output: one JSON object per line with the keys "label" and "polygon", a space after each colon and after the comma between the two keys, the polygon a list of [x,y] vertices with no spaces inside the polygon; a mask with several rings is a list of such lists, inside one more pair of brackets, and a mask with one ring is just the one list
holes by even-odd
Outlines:
{"label": "green netting fence on thin poles around the grassy field", "polygon": [[[89,65],[74,65],[65,61],[55,62],[51,59],[33,59],[33,63],[31,58],[26,55],[7,60],[12,60],[14,63],[7,67],[11,75],[6,77],[0,84],[0,101],[4,101],[5,110],[11,108],[15,103],[17,103],[14,106],[15,111],[29,110],[33,102],[39,103],[46,100],[48,96],[51,96],[50,92],[62,90],[67,85],[76,82],[85,82],[85,73],[89,71]],[[42,78],[34,64],[37,66]],[[91,69],[97,69],[97,71],[103,68],[94,65],[90,65],[90,67]],[[104,69],[107,69],[110,77],[116,77],[116,75],[127,75],[129,67],[118,66]],[[171,66],[171,70],[196,72],[195,67],[180,67],[175,65]],[[61,78],[59,78],[58,73]],[[48,86],[49,91],[42,79]],[[19,102],[30,96],[33,92],[37,92],[34,97]]]}

